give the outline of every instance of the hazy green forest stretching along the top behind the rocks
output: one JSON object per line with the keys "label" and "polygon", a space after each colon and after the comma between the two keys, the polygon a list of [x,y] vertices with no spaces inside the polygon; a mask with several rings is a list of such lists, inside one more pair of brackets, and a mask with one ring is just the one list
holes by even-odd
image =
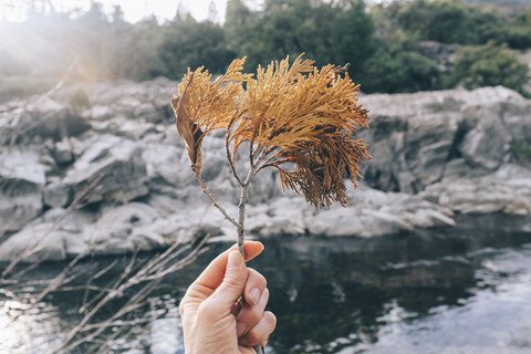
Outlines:
{"label": "hazy green forest stretching along the top behind the rocks", "polygon": [[0,102],[44,92],[76,60],[83,82],[157,76],[180,80],[188,67],[225,72],[247,56],[254,71],[301,52],[316,65],[350,63],[365,93],[407,93],[504,85],[530,95],[531,7],[414,0],[266,0],[250,9],[228,2],[222,21],[198,22],[179,10],[171,20],[124,20],[105,13],[29,8],[23,22],[0,21]]}

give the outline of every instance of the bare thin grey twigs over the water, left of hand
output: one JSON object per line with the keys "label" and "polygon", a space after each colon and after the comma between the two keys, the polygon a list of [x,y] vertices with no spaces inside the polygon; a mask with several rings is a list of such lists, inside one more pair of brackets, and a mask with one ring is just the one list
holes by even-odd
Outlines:
{"label": "bare thin grey twigs over the water, left of hand", "polygon": [[[82,199],[97,189],[108,170],[103,171],[74,197],[49,233],[61,227],[64,218],[80,207]],[[176,240],[166,250],[152,256],[139,256],[139,250],[135,249],[132,256],[124,256],[122,260],[115,259],[106,264],[105,259],[94,257],[97,235],[94,233],[85,250],[70,260],[59,274],[49,279],[32,273],[44,261],[39,251],[41,241],[49,233],[35,238],[25,251],[1,268],[0,300],[13,301],[17,311],[10,313],[9,321],[0,324],[0,331],[8,326],[23,326],[20,323],[28,321],[40,305],[56,294],[65,292],[79,298],[80,302],[70,310],[73,319],[61,322],[67,330],[65,333],[55,334],[55,340],[46,339],[45,347],[41,347],[39,341],[15,344],[50,354],[110,353],[113,341],[132,341],[136,336],[135,327],[165,315],[157,312],[139,316],[138,310],[146,306],[149,296],[159,289],[165,277],[180,271],[207,250],[205,243],[209,238],[207,235],[194,243]],[[37,257],[35,261],[25,263],[32,256]],[[108,311],[108,306],[113,311]],[[41,336],[42,333],[38,331],[28,334]]]}

